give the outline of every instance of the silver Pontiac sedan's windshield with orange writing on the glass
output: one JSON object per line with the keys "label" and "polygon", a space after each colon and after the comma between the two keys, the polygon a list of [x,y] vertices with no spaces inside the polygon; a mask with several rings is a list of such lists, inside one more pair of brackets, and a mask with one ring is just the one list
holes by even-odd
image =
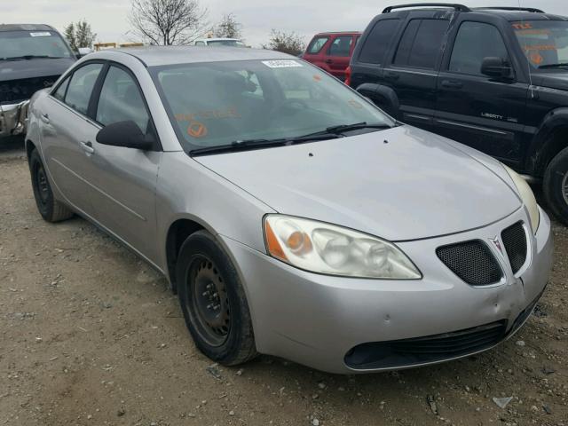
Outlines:
{"label": "silver Pontiac sedan's windshield with orange writing on the glass", "polygon": [[211,62],[150,72],[187,151],[297,138],[343,124],[395,125],[339,80],[300,60]]}

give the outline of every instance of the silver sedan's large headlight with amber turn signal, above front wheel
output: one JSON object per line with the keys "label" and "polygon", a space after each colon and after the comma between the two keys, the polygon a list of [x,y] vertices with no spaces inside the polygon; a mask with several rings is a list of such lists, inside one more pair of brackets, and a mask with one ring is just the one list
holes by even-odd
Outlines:
{"label": "silver sedan's large headlight with amber turn signal, above front wheel", "polygon": [[306,271],[386,280],[422,278],[410,259],[390,242],[341,226],[268,215],[264,241],[271,256]]}

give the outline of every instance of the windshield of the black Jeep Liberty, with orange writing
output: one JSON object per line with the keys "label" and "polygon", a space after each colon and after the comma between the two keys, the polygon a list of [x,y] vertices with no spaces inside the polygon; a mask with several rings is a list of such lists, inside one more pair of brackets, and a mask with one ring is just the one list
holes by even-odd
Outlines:
{"label": "windshield of the black Jeep Liberty, with orange writing", "polygon": [[525,20],[511,25],[534,69],[568,63],[568,22]]}

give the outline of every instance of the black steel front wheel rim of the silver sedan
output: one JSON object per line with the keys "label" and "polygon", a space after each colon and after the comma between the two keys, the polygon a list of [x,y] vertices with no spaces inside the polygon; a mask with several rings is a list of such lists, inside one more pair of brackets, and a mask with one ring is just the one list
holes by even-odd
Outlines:
{"label": "black steel front wheel rim of the silver sedan", "polygon": [[205,256],[195,256],[187,280],[187,309],[196,331],[211,346],[221,346],[231,329],[231,311],[225,281]]}

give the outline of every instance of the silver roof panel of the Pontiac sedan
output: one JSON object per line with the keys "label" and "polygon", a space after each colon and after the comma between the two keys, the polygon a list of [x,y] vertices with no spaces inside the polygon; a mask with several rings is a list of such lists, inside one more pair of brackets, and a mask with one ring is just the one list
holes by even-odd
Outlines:
{"label": "silver roof panel of the Pontiac sedan", "polygon": [[254,59],[297,59],[280,51],[243,49],[242,47],[209,47],[203,49],[199,46],[146,46],[109,49],[91,53],[89,58],[110,59],[106,55],[107,52],[118,52],[134,56],[145,64],[146,67]]}

